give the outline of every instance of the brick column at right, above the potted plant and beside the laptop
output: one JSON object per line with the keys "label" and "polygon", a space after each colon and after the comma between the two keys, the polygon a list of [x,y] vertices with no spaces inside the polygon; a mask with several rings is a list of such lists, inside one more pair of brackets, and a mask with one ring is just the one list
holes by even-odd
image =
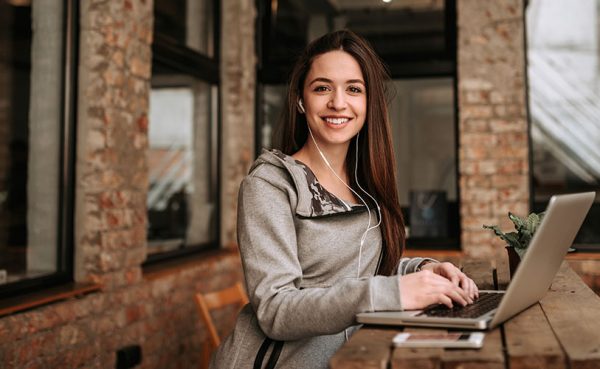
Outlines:
{"label": "brick column at right, above the potted plant and beside the laptop", "polygon": [[459,173],[463,250],[489,256],[529,209],[523,1],[458,0]]}

